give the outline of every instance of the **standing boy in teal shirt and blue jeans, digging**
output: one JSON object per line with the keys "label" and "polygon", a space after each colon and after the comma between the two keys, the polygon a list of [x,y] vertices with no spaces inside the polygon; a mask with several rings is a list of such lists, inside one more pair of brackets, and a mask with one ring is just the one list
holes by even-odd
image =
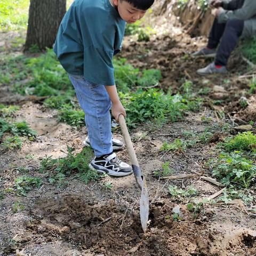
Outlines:
{"label": "standing boy in teal shirt and blue jeans, digging", "polygon": [[54,52],[67,71],[79,104],[95,158],[90,168],[115,177],[132,173],[113,153],[111,113],[126,116],[119,100],[113,55],[122,47],[125,25],[141,19],[154,0],[75,0],[63,18]]}

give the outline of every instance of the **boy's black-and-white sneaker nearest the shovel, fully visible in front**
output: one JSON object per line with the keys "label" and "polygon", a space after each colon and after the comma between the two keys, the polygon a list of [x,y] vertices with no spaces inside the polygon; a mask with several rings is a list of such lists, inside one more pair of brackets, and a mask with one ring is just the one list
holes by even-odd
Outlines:
{"label": "boy's black-and-white sneaker nearest the shovel, fully visible in front", "polygon": [[118,159],[115,153],[103,157],[95,157],[89,167],[99,173],[107,173],[114,177],[130,175],[133,172],[132,167]]}

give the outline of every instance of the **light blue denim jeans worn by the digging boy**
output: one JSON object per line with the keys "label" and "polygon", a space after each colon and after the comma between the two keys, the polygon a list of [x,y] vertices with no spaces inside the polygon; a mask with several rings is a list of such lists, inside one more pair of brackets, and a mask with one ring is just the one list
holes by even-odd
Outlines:
{"label": "light blue denim jeans worn by the digging boy", "polygon": [[85,124],[96,157],[113,152],[111,133],[111,100],[104,85],[86,81],[83,76],[69,75],[79,105],[84,110]]}

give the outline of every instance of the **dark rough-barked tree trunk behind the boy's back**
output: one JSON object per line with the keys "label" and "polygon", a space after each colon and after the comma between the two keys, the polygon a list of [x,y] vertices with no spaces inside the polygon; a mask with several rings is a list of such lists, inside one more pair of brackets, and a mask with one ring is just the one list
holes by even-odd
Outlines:
{"label": "dark rough-barked tree trunk behind the boy's back", "polygon": [[65,13],[66,0],[30,0],[25,51],[34,45],[52,48]]}

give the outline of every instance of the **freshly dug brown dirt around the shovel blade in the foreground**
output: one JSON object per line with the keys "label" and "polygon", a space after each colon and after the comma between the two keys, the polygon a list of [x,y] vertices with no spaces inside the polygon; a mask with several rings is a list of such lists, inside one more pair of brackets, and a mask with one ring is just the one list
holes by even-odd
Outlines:
{"label": "freshly dug brown dirt around the shovel blade in the foreground", "polygon": [[[44,242],[61,237],[82,255],[254,255],[245,254],[256,249],[254,234],[238,230],[228,237],[224,231],[209,229],[212,215],[193,219],[186,205],[180,205],[184,220],[173,221],[173,206],[165,199],[151,205],[149,229],[143,234],[138,209],[125,215],[126,207],[114,200],[104,204],[73,195],[44,198],[31,210],[33,220],[27,222],[27,229]],[[236,246],[240,254],[229,254]]]}

